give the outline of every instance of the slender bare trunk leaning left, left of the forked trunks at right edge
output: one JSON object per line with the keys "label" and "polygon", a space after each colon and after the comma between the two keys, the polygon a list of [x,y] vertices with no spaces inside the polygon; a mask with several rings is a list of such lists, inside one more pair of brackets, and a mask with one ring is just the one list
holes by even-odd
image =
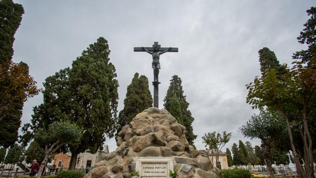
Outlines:
{"label": "slender bare trunk leaning left, left of the forked trunks at right edge", "polygon": [[280,106],[278,106],[278,109],[279,109],[279,111],[281,112],[281,114],[283,115],[283,117],[285,118],[285,121],[286,121],[286,127],[287,127],[287,131],[288,131],[289,140],[291,142],[291,147],[292,147],[292,152],[293,152],[293,159],[294,159],[294,163],[295,163],[297,174],[298,174],[299,177],[303,177],[303,171],[301,169],[299,156],[298,156],[298,154],[296,152],[296,148],[295,148],[294,141],[293,141],[293,134],[292,134],[291,125],[289,124],[288,117],[285,114],[285,112],[283,111],[283,109]]}

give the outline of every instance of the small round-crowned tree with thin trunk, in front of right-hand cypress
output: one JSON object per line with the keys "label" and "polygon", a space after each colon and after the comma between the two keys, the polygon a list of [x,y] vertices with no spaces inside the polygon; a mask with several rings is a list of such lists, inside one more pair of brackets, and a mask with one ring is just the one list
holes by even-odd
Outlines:
{"label": "small round-crowned tree with thin trunk, in front of right-hand cypress", "polygon": [[239,128],[245,137],[261,140],[264,160],[271,177],[274,177],[271,143],[285,130],[285,123],[282,119],[282,115],[278,112],[261,111],[259,115],[251,116],[251,119]]}

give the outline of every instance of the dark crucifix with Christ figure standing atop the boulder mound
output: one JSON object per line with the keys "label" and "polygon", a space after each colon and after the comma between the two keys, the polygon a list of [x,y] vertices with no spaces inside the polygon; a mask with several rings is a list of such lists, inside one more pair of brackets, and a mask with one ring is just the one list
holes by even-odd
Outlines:
{"label": "dark crucifix with Christ figure standing atop the boulder mound", "polygon": [[166,53],[166,52],[178,52],[177,47],[161,47],[158,42],[154,42],[152,47],[134,47],[134,52],[147,52],[151,54],[152,56],[152,63],[151,67],[153,69],[153,107],[158,108],[159,103],[159,90],[158,90],[158,85],[160,84],[159,82],[159,69],[160,69],[160,55]]}

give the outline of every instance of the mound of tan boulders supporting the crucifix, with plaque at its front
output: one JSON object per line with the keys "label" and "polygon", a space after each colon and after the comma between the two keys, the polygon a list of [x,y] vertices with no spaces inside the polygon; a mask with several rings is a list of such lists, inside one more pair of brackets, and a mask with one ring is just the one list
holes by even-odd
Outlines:
{"label": "mound of tan boulders supporting the crucifix, with plaque at its front", "polygon": [[185,126],[165,109],[148,108],[136,115],[118,134],[117,148],[110,152],[85,178],[131,177],[137,171],[143,178],[215,178],[205,150],[196,150],[186,139]]}

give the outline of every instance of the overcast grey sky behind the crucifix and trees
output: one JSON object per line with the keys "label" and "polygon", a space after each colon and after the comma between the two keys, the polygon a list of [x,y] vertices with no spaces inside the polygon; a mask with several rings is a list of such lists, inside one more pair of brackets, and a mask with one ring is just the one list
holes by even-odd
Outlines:
{"label": "overcast grey sky behind the crucifix and trees", "polygon": [[[160,58],[159,108],[172,75],[182,80],[195,118],[195,145],[204,149],[201,136],[208,132],[232,132],[227,147],[249,140],[238,128],[256,113],[246,104],[245,85],[260,74],[258,50],[269,47],[280,63],[291,64],[292,54],[306,46],[296,40],[308,19],[306,10],[315,1],[14,1],[24,7],[15,34],[15,62],[30,66],[39,88],[49,75],[71,67],[98,37],[109,41],[111,62],[119,81],[120,111],[134,73],[153,81],[152,58],[133,47],[178,47],[178,53]],[[153,95],[153,86],[150,85]],[[22,124],[43,102],[42,94],[23,107]],[[259,140],[253,140],[259,145]],[[114,139],[107,139],[110,151]],[[226,146],[223,148],[226,150]]]}

